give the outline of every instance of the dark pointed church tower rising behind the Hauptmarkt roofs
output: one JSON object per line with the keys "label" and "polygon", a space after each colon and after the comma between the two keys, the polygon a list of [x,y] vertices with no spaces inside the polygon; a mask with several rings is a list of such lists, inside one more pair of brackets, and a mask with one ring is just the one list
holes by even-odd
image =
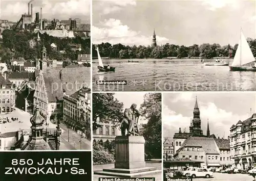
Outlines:
{"label": "dark pointed church tower rising behind the Hauptmarkt roofs", "polygon": [[201,119],[200,119],[200,111],[197,104],[197,97],[196,97],[196,104],[195,104],[193,114],[194,114],[194,117],[192,120],[192,123],[193,123],[192,133],[195,135],[203,135],[203,131],[201,130]]}

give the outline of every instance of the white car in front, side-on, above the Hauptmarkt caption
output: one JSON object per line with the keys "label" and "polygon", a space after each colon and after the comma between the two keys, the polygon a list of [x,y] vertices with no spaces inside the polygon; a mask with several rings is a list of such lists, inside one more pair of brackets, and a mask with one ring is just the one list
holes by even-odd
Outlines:
{"label": "white car in front, side-on, above the Hauptmarkt caption", "polygon": [[190,167],[187,170],[182,172],[182,175],[189,177],[189,175],[192,178],[196,178],[196,177],[212,177],[213,176],[213,172],[208,171],[206,168],[196,168],[196,167]]}

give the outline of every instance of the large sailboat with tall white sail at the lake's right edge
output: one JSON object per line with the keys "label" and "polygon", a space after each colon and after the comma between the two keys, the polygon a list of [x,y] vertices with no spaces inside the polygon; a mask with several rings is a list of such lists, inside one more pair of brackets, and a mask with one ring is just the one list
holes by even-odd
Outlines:
{"label": "large sailboat with tall white sail at the lake's right edge", "polygon": [[251,63],[255,62],[255,58],[252,55],[250,46],[245,39],[245,36],[241,29],[240,41],[238,44],[238,49],[236,51],[236,55],[234,56],[234,60],[229,66],[232,71],[256,71],[255,64],[251,66]]}

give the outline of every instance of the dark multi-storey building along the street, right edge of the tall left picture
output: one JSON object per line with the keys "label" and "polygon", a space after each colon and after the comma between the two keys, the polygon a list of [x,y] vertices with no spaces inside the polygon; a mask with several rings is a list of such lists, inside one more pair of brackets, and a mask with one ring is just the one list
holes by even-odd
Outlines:
{"label": "dark multi-storey building along the street, right edge of the tall left picture", "polygon": [[83,87],[63,96],[63,121],[82,137],[91,140],[91,89]]}

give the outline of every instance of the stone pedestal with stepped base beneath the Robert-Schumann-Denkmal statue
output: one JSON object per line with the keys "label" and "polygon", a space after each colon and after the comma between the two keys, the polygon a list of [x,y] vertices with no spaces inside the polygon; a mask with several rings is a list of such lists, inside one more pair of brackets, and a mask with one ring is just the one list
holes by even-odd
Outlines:
{"label": "stone pedestal with stepped base beneath the Robert-Schumann-Denkmal statue", "polygon": [[142,136],[117,136],[115,168],[96,171],[94,174],[117,176],[117,177],[138,177],[161,173],[157,168],[146,167],[144,156],[145,140]]}

